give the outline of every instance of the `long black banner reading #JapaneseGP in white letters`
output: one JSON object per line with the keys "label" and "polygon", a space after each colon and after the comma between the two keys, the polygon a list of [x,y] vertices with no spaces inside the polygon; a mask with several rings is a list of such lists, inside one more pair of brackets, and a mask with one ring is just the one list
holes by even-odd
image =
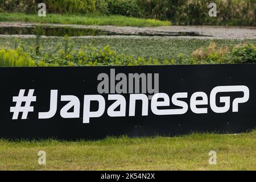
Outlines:
{"label": "long black banner reading #JapaneseGP in white letters", "polygon": [[256,64],[0,68],[1,138],[98,139],[256,127]]}

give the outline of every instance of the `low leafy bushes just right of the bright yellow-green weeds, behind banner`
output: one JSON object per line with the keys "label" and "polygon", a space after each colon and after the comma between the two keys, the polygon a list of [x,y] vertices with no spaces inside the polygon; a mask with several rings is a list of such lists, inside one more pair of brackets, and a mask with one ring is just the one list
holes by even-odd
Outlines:
{"label": "low leafy bushes just right of the bright yellow-green weeds, behind banner", "polygon": [[[64,46],[65,47],[65,46]],[[91,45],[80,47],[79,49],[60,49],[56,55],[44,56],[39,61],[40,64],[60,65],[60,66],[82,66],[82,65],[154,65],[160,64],[156,59],[146,59],[144,57],[134,57],[125,54],[118,54],[110,46],[98,49]]]}

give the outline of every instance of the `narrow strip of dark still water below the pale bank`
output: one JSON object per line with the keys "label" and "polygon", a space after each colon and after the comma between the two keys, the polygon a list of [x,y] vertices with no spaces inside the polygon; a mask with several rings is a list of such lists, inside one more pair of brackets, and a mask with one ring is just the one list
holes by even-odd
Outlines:
{"label": "narrow strip of dark still water below the pale bank", "polygon": [[[33,35],[34,27],[0,27],[0,35]],[[139,35],[139,36],[205,36],[199,32],[155,32],[154,34],[139,32],[126,34],[97,30],[96,28],[44,27],[46,36],[101,36],[101,35]]]}

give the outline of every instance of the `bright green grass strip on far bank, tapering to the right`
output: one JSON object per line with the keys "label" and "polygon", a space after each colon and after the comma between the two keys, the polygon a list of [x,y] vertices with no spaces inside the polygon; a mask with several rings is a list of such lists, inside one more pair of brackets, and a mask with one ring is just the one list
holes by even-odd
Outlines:
{"label": "bright green grass strip on far bank, tapering to the right", "polygon": [[120,15],[67,15],[47,14],[39,17],[37,14],[22,13],[0,13],[1,22],[39,22],[39,23],[63,23],[83,25],[113,25],[113,26],[135,26],[155,27],[170,26],[171,22],[155,19],[132,18]]}

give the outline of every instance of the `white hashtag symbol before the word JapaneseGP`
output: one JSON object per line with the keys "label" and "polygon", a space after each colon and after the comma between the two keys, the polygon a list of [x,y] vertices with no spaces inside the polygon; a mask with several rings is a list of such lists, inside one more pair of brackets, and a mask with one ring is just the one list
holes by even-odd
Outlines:
{"label": "white hashtag symbol before the word JapaneseGP", "polygon": [[[19,90],[19,96],[13,97],[13,102],[16,102],[14,107],[10,107],[10,112],[13,113],[13,119],[18,119],[19,113],[22,113],[22,119],[27,119],[27,115],[29,112],[34,111],[34,107],[30,106],[31,102],[36,101],[36,96],[33,96],[34,89],[28,90],[27,96],[24,96],[25,90]],[[25,105],[22,106],[22,102],[25,102]]]}

